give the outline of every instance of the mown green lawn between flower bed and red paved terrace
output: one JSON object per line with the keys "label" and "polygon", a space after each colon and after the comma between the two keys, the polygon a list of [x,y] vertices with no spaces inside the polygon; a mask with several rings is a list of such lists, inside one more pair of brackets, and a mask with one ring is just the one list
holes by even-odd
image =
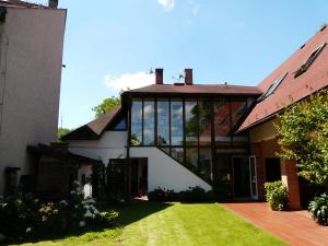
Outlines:
{"label": "mown green lawn between flower bed and red paved terrace", "polygon": [[141,203],[119,212],[120,227],[35,245],[286,245],[216,203]]}

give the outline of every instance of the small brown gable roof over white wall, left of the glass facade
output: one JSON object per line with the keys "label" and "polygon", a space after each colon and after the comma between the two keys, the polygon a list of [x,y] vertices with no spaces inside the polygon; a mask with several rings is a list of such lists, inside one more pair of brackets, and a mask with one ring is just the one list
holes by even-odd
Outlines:
{"label": "small brown gable roof over white wall, left of the glass facade", "polygon": [[116,107],[112,112],[90,121],[89,124],[79,127],[78,129],[67,133],[62,140],[97,140],[106,130],[107,126],[121,112],[121,106]]}

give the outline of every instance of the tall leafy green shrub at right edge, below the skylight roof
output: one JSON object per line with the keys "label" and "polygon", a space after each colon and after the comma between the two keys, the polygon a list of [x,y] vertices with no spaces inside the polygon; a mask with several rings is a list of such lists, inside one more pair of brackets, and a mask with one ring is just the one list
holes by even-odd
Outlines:
{"label": "tall leafy green shrub at right edge, below the skylight roof", "polygon": [[297,160],[298,175],[316,185],[327,185],[328,90],[292,105],[279,119],[279,155]]}

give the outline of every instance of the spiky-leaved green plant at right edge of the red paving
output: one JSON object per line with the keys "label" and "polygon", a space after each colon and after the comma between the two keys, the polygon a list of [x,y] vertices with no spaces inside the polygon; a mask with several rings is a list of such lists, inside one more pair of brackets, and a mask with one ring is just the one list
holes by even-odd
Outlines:
{"label": "spiky-leaved green plant at right edge of the red paving", "polygon": [[312,218],[321,225],[328,225],[328,195],[323,194],[309,202],[308,211]]}

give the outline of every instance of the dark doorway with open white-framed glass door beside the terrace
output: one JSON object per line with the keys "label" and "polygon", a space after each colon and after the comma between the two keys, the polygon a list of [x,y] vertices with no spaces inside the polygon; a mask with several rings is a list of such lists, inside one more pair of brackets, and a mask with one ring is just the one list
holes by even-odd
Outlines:
{"label": "dark doorway with open white-framed glass door beside the terrace", "polygon": [[233,156],[233,179],[236,197],[258,198],[255,156]]}

